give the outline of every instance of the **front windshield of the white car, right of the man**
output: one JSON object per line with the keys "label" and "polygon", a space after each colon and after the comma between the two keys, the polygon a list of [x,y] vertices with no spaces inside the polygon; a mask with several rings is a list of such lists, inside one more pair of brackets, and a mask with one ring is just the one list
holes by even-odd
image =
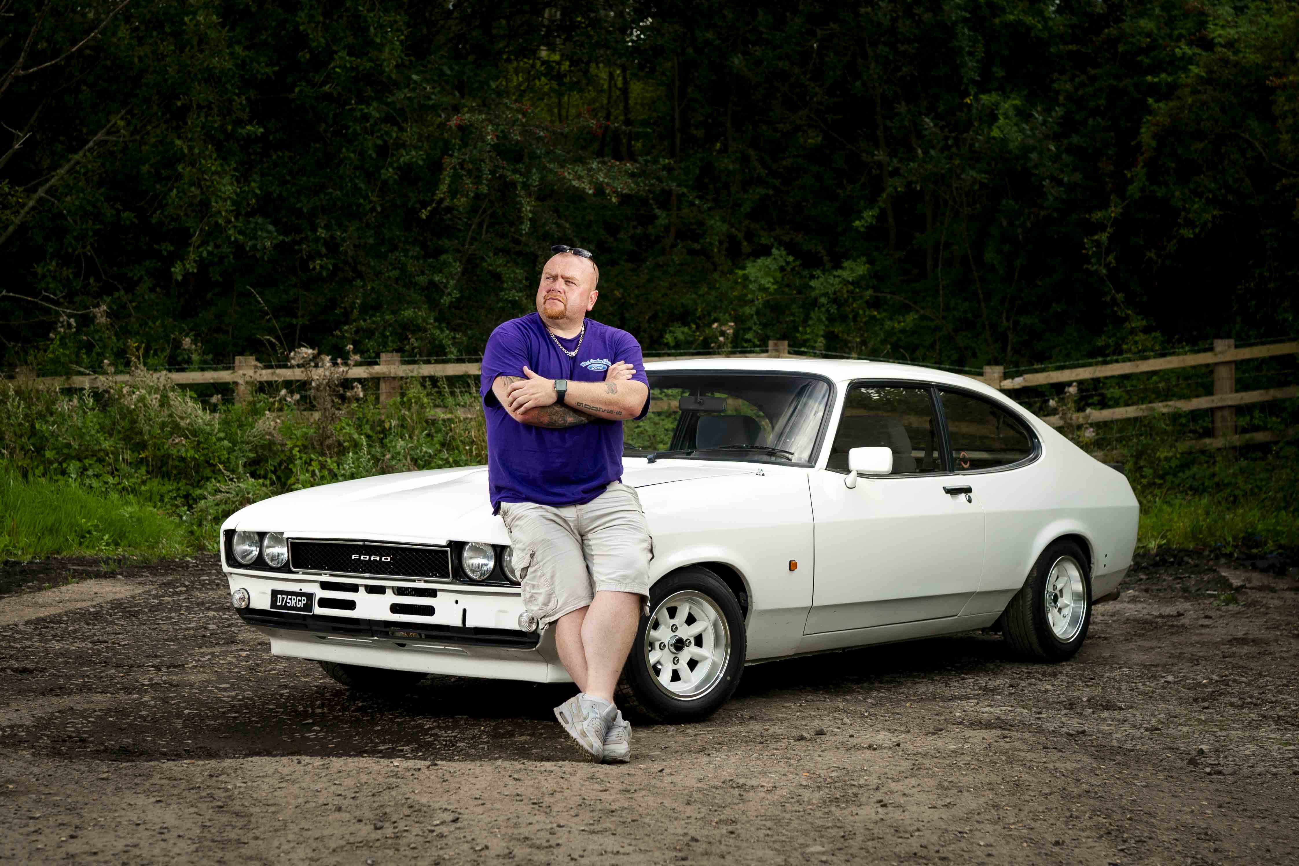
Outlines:
{"label": "front windshield of the white car, right of the man", "polygon": [[622,425],[622,453],[811,464],[829,402],[830,386],[811,377],[650,373],[650,413]]}

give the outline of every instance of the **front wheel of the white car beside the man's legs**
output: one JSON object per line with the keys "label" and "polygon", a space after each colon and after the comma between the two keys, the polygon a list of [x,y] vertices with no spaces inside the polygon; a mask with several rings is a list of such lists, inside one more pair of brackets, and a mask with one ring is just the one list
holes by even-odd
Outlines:
{"label": "front wheel of the white car beside the man's legs", "polygon": [[[696,623],[703,623],[699,634],[681,634]],[[618,702],[656,722],[708,718],[739,686],[744,650],[744,614],[735,593],[708,569],[683,569],[650,589],[650,617],[637,628]]]}

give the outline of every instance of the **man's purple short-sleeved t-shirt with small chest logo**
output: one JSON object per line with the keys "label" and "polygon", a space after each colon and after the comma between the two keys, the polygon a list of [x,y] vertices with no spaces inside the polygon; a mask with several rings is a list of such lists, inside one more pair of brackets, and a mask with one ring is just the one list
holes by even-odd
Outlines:
{"label": "man's purple short-sleeved t-shirt with small chest logo", "polygon": [[[560,339],[572,352],[578,338]],[[529,313],[499,325],[483,351],[483,412],[487,415],[487,484],[492,510],[501,502],[581,505],[622,476],[622,422],[592,418],[575,427],[551,430],[523,425],[509,417],[491,386],[496,377],[522,377],[523,365],[547,379],[604,382],[609,366],[625,361],[631,377],[650,386],[640,344],[608,325],[586,319],[586,336],[577,357],[555,345],[542,317]],[[650,400],[637,419],[644,418]]]}

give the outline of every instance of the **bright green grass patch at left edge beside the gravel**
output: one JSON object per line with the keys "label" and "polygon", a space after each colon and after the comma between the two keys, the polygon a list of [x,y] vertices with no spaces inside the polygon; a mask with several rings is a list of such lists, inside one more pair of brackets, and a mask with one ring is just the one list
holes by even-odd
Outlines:
{"label": "bright green grass patch at left edge beside the gravel", "polygon": [[52,554],[184,556],[188,526],[132,496],[88,493],[68,480],[25,482],[0,473],[0,558]]}

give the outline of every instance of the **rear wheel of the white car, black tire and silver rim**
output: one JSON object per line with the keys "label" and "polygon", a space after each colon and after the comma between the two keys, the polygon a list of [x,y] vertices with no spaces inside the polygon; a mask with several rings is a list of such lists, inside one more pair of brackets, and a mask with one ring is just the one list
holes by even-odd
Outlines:
{"label": "rear wheel of the white car, black tire and silver rim", "polygon": [[1055,541],[1033,563],[1024,588],[1002,614],[1005,643],[1025,658],[1061,662],[1078,652],[1090,626],[1091,563],[1087,553],[1074,541]]}

